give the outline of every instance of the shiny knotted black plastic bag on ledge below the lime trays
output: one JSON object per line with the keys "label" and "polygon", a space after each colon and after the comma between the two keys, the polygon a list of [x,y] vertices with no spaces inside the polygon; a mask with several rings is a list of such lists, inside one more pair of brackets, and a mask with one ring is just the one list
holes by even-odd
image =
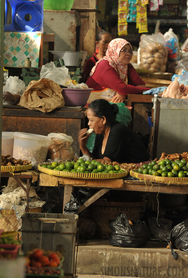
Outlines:
{"label": "shiny knotted black plastic bag on ledge below the lime trays", "polygon": [[109,228],[112,229],[109,243],[113,246],[133,248],[144,246],[150,236],[145,222],[137,221],[136,224],[130,225],[125,213],[119,213]]}

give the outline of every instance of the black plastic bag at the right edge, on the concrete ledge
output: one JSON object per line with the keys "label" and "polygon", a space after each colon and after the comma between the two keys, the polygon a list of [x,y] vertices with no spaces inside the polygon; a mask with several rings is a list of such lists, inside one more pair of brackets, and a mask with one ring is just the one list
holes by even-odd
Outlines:
{"label": "black plastic bag at the right edge, on the concrete ledge", "polygon": [[[171,251],[173,248],[188,252],[188,219],[176,225],[171,233],[167,242],[171,241]],[[178,259],[177,253],[173,251],[172,255],[175,260]]]}

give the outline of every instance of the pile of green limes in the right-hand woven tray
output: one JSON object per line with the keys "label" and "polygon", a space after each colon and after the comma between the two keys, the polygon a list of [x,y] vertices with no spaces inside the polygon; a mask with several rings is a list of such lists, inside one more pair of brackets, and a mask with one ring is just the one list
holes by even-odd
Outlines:
{"label": "pile of green limes in the right-hand woven tray", "polygon": [[169,178],[184,178],[188,177],[188,162],[186,159],[177,159],[175,161],[164,159],[158,163],[156,161],[152,161],[149,164],[143,164],[142,167],[139,167],[139,169],[134,172]]}

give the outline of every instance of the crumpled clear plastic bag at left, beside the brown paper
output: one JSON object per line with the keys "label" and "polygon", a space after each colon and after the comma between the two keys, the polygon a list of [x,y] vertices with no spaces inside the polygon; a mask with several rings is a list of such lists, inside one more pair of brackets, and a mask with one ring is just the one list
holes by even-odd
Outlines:
{"label": "crumpled clear plastic bag at left, beside the brown paper", "polygon": [[11,94],[22,95],[25,91],[25,83],[23,80],[20,80],[18,76],[9,76],[6,81],[3,91],[8,91]]}

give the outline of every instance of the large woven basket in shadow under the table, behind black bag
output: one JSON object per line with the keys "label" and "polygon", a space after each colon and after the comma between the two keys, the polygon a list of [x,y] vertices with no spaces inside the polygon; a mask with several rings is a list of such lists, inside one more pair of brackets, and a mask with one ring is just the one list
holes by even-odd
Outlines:
{"label": "large woven basket in shadow under the table, behind black bag", "polygon": [[140,219],[140,214],[145,211],[145,201],[141,202],[107,202],[96,201],[92,205],[92,216],[96,224],[96,236],[98,238],[109,238],[112,230],[109,229],[110,222],[120,212],[126,214],[131,221]]}

